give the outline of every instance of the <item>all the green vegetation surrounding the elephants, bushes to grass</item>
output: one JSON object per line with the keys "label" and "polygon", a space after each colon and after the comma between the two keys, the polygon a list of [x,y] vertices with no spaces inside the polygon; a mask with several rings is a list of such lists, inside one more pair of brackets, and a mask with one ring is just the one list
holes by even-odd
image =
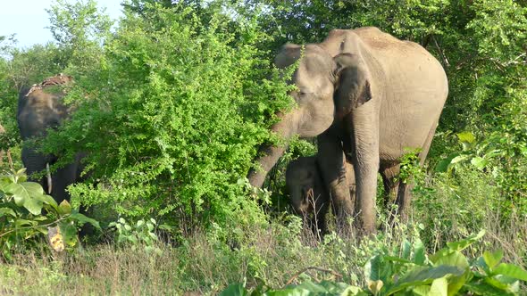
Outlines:
{"label": "all the green vegetation surrounding the elephants, bushes to grass", "polygon": [[[457,269],[395,292],[443,291],[446,281],[451,293],[522,290],[525,1],[132,0],[123,7],[113,27],[94,1],[59,0],[48,11],[54,43],[20,49],[0,37],[0,150],[13,156],[0,160],[1,260],[10,263],[0,283],[13,283],[0,292],[217,293],[245,283],[228,291],[280,294],[286,284],[324,279],[346,284],[297,292],[360,287],[384,295],[438,260],[455,260]],[[313,140],[290,145],[268,190],[254,194],[245,177],[258,145],[280,141],[268,132],[274,114],[292,107],[273,54],[286,42],[320,42],[330,29],[362,26],[434,54],[448,73],[448,101],[425,168],[411,155],[404,160],[415,181],[411,221],[390,224],[379,202],[383,230],[375,237],[316,242],[290,216],[283,190],[285,164],[313,154]],[[20,170],[18,93],[59,72],[76,80],[67,101],[77,111],[44,149],[64,161],[88,152],[88,181],[70,187],[71,204],[89,206],[103,230],[82,251],[72,225],[99,223],[54,204]],[[48,250],[47,226],[62,227],[67,252]],[[481,229],[481,240],[463,241]],[[447,245],[454,241],[466,245]],[[29,277],[32,285],[24,284]]]}

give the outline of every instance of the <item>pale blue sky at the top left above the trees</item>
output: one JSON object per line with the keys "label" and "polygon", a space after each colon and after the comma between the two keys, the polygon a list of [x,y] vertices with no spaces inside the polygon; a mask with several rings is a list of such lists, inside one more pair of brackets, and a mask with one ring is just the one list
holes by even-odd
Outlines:
{"label": "pale blue sky at the top left above the trees", "polygon": [[[69,0],[70,3],[75,0]],[[112,19],[121,15],[123,0],[96,0],[99,7],[105,7]],[[7,0],[0,6],[0,36],[16,34],[18,47],[29,47],[34,44],[46,44],[53,41],[49,27],[50,8],[53,0]]]}

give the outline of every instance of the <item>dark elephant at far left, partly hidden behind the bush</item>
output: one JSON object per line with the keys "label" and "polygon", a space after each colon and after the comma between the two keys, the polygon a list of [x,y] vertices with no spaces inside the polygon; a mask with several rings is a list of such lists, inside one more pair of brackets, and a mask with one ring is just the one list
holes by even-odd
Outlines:
{"label": "dark elephant at far left, partly hidden behind the bush", "polygon": [[[72,81],[70,76],[57,75],[46,78],[41,84],[21,91],[19,95],[17,120],[23,140],[32,137],[46,136],[47,128],[58,127],[64,119],[70,116],[71,111],[63,105],[64,93],[61,86]],[[46,193],[50,193],[54,200],[61,202],[70,200],[66,187],[79,181],[82,166],[80,164],[82,153],[76,155],[75,160],[59,168],[51,175],[51,191],[48,187],[47,177],[34,179],[31,174],[46,169],[46,164],[52,166],[57,160],[56,155],[38,152],[38,147],[22,148],[21,159],[27,169],[29,180],[38,182]]]}

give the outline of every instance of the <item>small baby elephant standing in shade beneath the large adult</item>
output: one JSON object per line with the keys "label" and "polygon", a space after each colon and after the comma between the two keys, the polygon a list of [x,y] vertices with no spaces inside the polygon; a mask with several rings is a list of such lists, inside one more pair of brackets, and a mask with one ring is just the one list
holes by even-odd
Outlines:
{"label": "small baby elephant standing in shade beneath the large adult", "polygon": [[[346,177],[350,196],[355,199],[355,172],[349,162],[346,165]],[[330,193],[323,183],[316,156],[300,157],[289,162],[286,169],[286,186],[291,205],[297,215],[311,226],[316,236],[326,234],[325,217],[330,209]]]}

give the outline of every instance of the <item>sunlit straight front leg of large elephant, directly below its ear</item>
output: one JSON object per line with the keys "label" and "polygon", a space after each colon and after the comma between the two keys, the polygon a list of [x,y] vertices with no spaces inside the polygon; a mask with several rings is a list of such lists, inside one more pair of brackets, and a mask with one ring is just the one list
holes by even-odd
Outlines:
{"label": "sunlit straight front leg of large elephant, directly below its ear", "polygon": [[379,125],[373,105],[364,104],[347,117],[348,134],[354,147],[352,160],[356,177],[356,208],[365,234],[375,232],[375,198],[379,171]]}

